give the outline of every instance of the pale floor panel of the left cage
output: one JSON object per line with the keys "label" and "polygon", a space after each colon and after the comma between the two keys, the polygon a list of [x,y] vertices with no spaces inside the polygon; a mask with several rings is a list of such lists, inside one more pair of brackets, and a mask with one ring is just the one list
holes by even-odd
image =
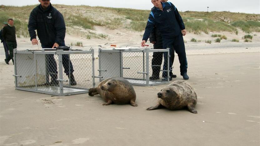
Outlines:
{"label": "pale floor panel of the left cage", "polygon": [[[29,88],[29,89],[31,89],[31,88]],[[50,93],[59,93],[60,87],[59,86],[38,86],[37,90],[50,92]],[[86,90],[63,87],[63,93],[72,93],[72,92],[78,92],[78,91],[86,91]]]}

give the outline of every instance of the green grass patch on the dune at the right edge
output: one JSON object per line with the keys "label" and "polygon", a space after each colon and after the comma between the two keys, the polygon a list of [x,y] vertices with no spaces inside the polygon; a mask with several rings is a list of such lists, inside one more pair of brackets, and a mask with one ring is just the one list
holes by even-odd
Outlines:
{"label": "green grass patch on the dune at the right edge", "polygon": [[251,32],[260,32],[260,22],[257,21],[234,21],[231,23],[233,27],[238,27],[242,29],[243,32],[251,33]]}

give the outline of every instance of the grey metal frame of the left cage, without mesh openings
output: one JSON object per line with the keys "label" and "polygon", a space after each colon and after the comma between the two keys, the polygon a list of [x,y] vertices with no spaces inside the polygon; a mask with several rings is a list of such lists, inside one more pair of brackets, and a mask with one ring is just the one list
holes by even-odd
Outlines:
{"label": "grey metal frame of the left cage, without mesh openings", "polygon": [[[18,78],[22,78],[22,75],[17,75],[17,63],[19,64],[19,62],[17,62],[17,55],[18,54],[19,55],[20,54],[24,54],[24,55],[28,54],[30,56],[34,56],[33,59],[30,58],[31,60],[33,60],[33,62],[31,61],[31,64],[34,65],[33,67],[35,69],[34,71],[32,71],[34,73],[31,74],[32,76],[34,74],[34,77],[32,77],[32,79],[35,80],[34,81],[35,82],[35,84],[34,84],[35,87],[33,87],[33,88],[22,87],[22,86],[19,86],[18,83],[17,83]],[[57,71],[58,71],[58,76],[59,77],[58,77],[58,79],[56,79],[58,81],[58,85],[56,86],[56,88],[57,88],[57,91],[59,93],[38,90],[38,86],[39,86],[39,85],[37,85],[37,75],[38,75],[37,74],[37,65],[38,64],[37,64],[36,56],[39,55],[39,54],[43,54],[44,56],[49,55],[49,54],[51,54],[51,55],[58,55],[58,58],[57,58],[57,60],[58,60]],[[91,69],[91,71],[92,71],[92,75],[91,75],[92,80],[90,79],[88,81],[92,82],[91,83],[92,84],[91,87],[95,87],[95,78],[94,78],[94,76],[95,76],[95,71],[94,71],[94,67],[95,67],[94,60],[95,60],[95,58],[94,58],[94,50],[93,49],[91,51],[78,51],[78,50],[75,50],[75,51],[63,51],[63,50],[49,51],[49,50],[46,50],[46,49],[45,50],[44,49],[42,49],[42,50],[28,50],[27,49],[27,50],[21,50],[21,51],[19,50],[18,51],[17,49],[14,49],[14,57],[13,57],[14,58],[14,75],[13,76],[15,77],[15,89],[16,90],[30,91],[30,92],[37,92],[37,93],[43,93],[43,94],[49,94],[49,95],[57,95],[57,96],[67,96],[67,95],[88,93],[89,88],[80,88],[80,87],[73,87],[73,86],[71,86],[71,78],[70,78],[71,73],[69,73],[68,80],[66,80],[66,79],[64,80],[64,78],[63,78],[63,74],[64,74],[64,72],[63,72],[63,59],[62,59],[62,55],[68,55],[68,59],[70,61],[70,56],[71,55],[88,55],[88,54],[89,54],[89,58],[88,59],[92,60],[92,62],[91,62],[92,63],[92,69]],[[41,58],[41,61],[43,60],[42,58]],[[44,60],[46,61],[46,58],[44,58]],[[47,67],[47,65],[45,63],[44,63],[44,66]],[[68,66],[70,66],[70,64]],[[42,67],[42,68],[44,68],[44,67]],[[45,71],[46,71],[46,69],[45,69]],[[91,71],[89,71],[89,74],[91,74],[90,73]],[[47,78],[49,78],[49,75],[45,74],[45,82],[49,82],[47,80]],[[63,82],[67,82],[68,85],[64,85]],[[90,84],[88,84],[88,85],[90,86]],[[33,86],[33,85],[31,85],[31,86]]]}

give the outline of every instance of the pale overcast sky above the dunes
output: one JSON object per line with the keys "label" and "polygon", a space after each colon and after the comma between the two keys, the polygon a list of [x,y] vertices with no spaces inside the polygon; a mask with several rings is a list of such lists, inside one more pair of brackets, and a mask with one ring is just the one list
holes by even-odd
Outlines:
{"label": "pale overcast sky above the dunes", "polygon": [[[179,11],[230,11],[260,13],[259,0],[169,0]],[[151,0],[51,0],[53,4],[122,7],[150,10]],[[38,0],[0,0],[0,5],[25,6],[39,4]]]}

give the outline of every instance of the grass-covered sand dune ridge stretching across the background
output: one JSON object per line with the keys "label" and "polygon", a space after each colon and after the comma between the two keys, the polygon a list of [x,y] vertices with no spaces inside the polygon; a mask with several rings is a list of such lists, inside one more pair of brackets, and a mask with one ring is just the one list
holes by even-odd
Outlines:
{"label": "grass-covered sand dune ridge stretching across the background", "polygon": [[[0,22],[6,22],[8,18],[14,19],[17,37],[29,37],[28,19],[34,7],[0,6]],[[89,33],[95,26],[103,26],[109,29],[129,29],[142,32],[145,29],[150,10],[136,10],[111,7],[90,6],[65,6],[53,5],[65,19],[67,33],[81,36],[87,39],[108,39],[104,34]],[[71,10],[71,11],[68,11]],[[202,32],[235,32],[237,28],[244,32],[260,32],[260,15],[232,12],[180,12],[185,23],[186,30],[194,34]],[[79,28],[78,28],[79,27]],[[219,37],[219,36],[217,36]],[[224,39],[224,38],[223,38]]]}

